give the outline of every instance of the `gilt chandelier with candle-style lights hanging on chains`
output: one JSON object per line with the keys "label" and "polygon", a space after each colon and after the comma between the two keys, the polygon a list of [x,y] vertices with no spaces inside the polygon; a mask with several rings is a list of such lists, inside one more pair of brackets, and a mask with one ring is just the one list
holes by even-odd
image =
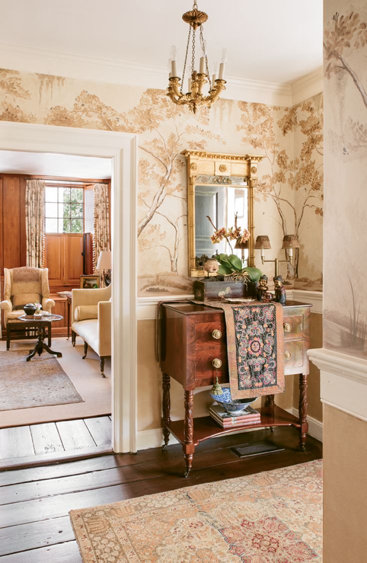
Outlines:
{"label": "gilt chandelier with candle-style lights hanging on chains", "polygon": [[[198,5],[194,1],[193,9],[185,12],[182,19],[189,24],[189,37],[187,37],[186,53],[184,70],[182,71],[181,78],[177,76],[176,68],[176,47],[171,47],[170,58],[168,60],[169,69],[169,86],[167,88],[167,96],[171,98],[174,104],[188,105],[189,108],[196,113],[196,108],[200,105],[210,107],[220,96],[220,93],[225,90],[226,81],[223,78],[225,64],[227,61],[226,49],[223,49],[221,55],[221,64],[218,72],[218,65],[214,63],[212,69],[212,78],[208,70],[208,57],[207,57],[207,42],[204,41],[203,36],[203,23],[207,21],[208,15],[205,12],[198,10]],[[201,56],[199,63],[199,71],[195,70],[195,46],[196,46],[196,31],[199,29]],[[191,78],[185,84],[185,72],[189,62],[189,51],[191,43]],[[209,83],[209,92],[207,95],[203,94],[204,84]],[[187,87],[187,92],[185,89]]]}

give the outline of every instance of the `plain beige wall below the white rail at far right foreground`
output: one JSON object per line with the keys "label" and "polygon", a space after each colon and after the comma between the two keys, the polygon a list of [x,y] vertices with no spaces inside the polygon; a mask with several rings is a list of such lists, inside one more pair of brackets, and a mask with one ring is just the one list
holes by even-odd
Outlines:
{"label": "plain beige wall below the white rail at far right foreground", "polygon": [[324,405],[324,563],[367,561],[367,422]]}

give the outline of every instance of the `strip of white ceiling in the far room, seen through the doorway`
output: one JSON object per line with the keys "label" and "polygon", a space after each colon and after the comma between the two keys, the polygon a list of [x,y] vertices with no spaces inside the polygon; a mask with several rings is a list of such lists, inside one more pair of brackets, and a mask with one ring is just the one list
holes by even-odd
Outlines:
{"label": "strip of white ceiling in the far room, seen through the doorway", "polygon": [[68,154],[0,150],[0,173],[99,180],[111,177],[111,160]]}

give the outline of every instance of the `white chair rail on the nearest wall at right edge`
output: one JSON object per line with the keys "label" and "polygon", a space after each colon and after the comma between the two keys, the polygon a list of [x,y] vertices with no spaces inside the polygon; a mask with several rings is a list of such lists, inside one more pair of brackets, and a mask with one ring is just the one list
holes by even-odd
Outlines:
{"label": "white chair rail on the nearest wall at right edge", "polygon": [[367,360],[326,348],[307,354],[320,369],[321,401],[367,421]]}

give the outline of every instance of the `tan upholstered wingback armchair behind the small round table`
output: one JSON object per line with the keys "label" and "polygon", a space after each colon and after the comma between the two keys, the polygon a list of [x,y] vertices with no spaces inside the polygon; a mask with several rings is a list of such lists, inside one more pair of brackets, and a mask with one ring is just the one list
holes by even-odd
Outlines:
{"label": "tan upholstered wingback armchair behind the small round table", "polygon": [[4,323],[24,315],[27,303],[41,303],[42,310],[51,312],[55,301],[50,299],[48,268],[4,268],[4,300],[0,309],[4,311]]}

